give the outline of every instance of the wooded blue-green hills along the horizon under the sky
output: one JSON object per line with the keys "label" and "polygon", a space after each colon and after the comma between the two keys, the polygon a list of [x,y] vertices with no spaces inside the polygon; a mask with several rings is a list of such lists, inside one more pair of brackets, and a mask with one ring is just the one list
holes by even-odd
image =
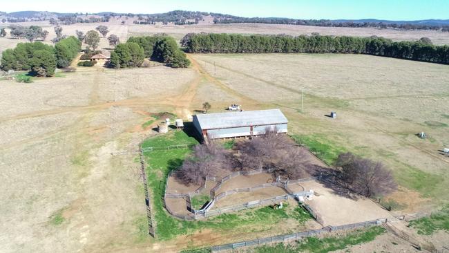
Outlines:
{"label": "wooded blue-green hills along the horizon under the sky", "polygon": [[[32,21],[59,19],[65,21],[66,24],[75,24],[77,13],[59,13],[46,11],[20,11],[6,13],[0,12],[0,16],[6,17],[10,22]],[[412,21],[394,21],[381,19],[289,19],[284,17],[238,17],[233,15],[214,13],[214,12],[195,12],[186,10],[173,10],[165,13],[153,14],[133,14],[133,13],[116,13],[116,12],[98,12],[89,13],[89,15],[97,15],[104,17],[101,21],[108,21],[111,16],[127,16],[137,17],[135,24],[198,24],[204,17],[212,17],[214,24],[233,24],[233,23],[256,23],[256,24],[289,24],[302,26],[336,26],[336,27],[376,27],[376,28],[399,28],[406,30],[439,30],[449,31],[449,19],[425,19]],[[70,21],[68,21],[70,20]],[[100,20],[100,19],[98,19]],[[97,19],[91,20],[97,22]],[[81,22],[85,22],[82,19]]]}

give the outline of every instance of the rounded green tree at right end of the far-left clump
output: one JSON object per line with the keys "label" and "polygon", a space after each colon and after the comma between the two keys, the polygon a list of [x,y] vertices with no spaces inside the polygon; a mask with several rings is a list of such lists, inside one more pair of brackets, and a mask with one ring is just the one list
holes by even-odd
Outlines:
{"label": "rounded green tree at right end of the far-left clump", "polygon": [[81,41],[79,41],[79,39],[75,36],[61,39],[57,44],[55,44],[55,50],[57,67],[65,68],[70,65],[70,62],[72,62],[78,52],[81,51]]}

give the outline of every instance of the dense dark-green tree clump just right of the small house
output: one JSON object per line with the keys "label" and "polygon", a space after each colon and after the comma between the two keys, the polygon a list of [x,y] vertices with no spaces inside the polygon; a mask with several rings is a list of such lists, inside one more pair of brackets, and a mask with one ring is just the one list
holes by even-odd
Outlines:
{"label": "dense dark-green tree clump just right of the small house", "polygon": [[151,58],[173,68],[190,65],[175,39],[168,36],[130,37],[124,44],[118,44],[111,53],[113,68],[141,66],[144,58]]}

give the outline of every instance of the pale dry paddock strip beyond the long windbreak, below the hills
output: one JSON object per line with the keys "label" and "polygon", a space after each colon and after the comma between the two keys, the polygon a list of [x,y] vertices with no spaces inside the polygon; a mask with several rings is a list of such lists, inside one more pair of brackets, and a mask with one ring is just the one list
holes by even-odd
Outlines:
{"label": "pale dry paddock strip beyond the long windbreak, below the hills", "polygon": [[[125,21],[125,24],[121,24]],[[311,35],[314,32],[318,32],[321,35],[346,35],[357,37],[370,37],[376,35],[379,37],[385,37],[394,41],[415,41],[421,37],[429,37],[434,44],[443,45],[449,44],[448,32],[431,31],[431,30],[394,30],[394,29],[378,29],[378,28],[332,28],[332,27],[318,27],[318,26],[294,26],[294,25],[278,25],[278,24],[213,24],[212,19],[206,19],[204,22],[200,22],[198,25],[189,26],[175,26],[175,25],[135,25],[134,19],[111,19],[108,23],[93,23],[93,24],[73,24],[73,25],[61,25],[63,33],[65,35],[75,35],[76,30],[81,30],[86,33],[88,30],[95,30],[95,27],[99,25],[105,25],[109,28],[108,35],[115,34],[120,38],[120,41],[126,41],[128,37],[140,36],[140,35],[153,35],[156,33],[166,33],[176,39],[181,39],[189,32],[227,32],[227,33],[240,33],[240,34],[279,34],[285,33],[287,35]],[[44,30],[48,30],[49,35],[46,41],[47,44],[51,44],[51,39],[56,37],[55,30],[48,21],[32,21],[15,23],[20,26],[41,26]],[[0,27],[8,27],[9,24],[0,24]],[[14,48],[19,42],[26,42],[26,39],[12,39],[9,37],[9,29],[7,37],[0,38],[0,51],[6,48]],[[106,37],[108,36],[106,35]],[[101,36],[101,35],[100,35]],[[102,38],[99,44],[99,48],[111,48],[106,38]],[[1,52],[0,52],[1,56]]]}

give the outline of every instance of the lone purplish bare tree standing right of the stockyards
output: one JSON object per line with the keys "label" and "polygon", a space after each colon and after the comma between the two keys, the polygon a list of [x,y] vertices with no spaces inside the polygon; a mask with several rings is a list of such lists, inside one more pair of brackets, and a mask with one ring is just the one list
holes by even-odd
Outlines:
{"label": "lone purplish bare tree standing right of the stockyards", "polygon": [[343,153],[338,156],[336,165],[341,168],[341,179],[357,194],[372,197],[397,189],[392,172],[382,162]]}

